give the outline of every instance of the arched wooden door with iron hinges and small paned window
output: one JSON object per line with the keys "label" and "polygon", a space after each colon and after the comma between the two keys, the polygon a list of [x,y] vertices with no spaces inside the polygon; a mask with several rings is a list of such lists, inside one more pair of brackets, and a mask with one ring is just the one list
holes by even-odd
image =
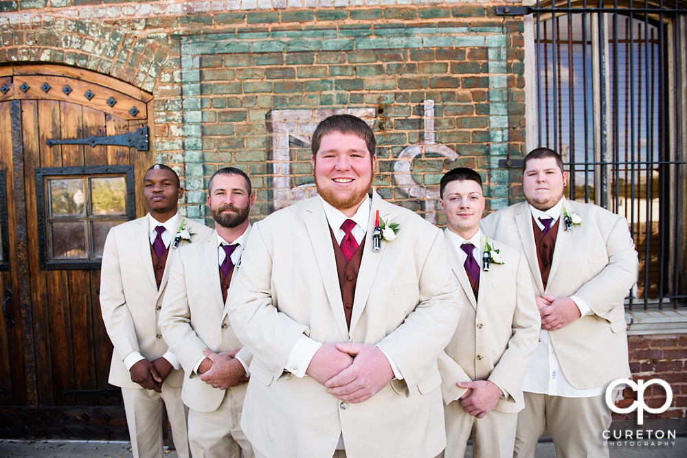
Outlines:
{"label": "arched wooden door with iron hinges and small paned window", "polygon": [[59,143],[147,139],[151,100],[81,69],[0,67],[0,437],[128,437],[107,390],[100,255],[109,227],[145,214],[153,154]]}

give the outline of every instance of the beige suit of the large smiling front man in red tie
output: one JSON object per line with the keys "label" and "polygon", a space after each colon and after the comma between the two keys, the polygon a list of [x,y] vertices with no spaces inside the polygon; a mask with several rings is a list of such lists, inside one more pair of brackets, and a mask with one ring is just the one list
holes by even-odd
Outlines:
{"label": "beige suit of the large smiling front man in red tie", "polygon": [[[372,252],[374,214],[400,224]],[[373,192],[350,330],[322,201],[302,201],[254,225],[226,311],[254,354],[242,426],[269,458],[434,457],[444,448],[436,358],[460,314],[444,238]],[[403,374],[369,400],[345,403],[313,378],[284,371],[297,340],[373,344]],[[259,456],[259,455],[258,455]]]}

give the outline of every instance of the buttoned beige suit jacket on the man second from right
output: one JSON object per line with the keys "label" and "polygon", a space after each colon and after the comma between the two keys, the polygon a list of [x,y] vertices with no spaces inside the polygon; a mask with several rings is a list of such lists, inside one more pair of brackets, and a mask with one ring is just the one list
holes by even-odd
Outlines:
{"label": "buttoned beige suit jacket on the man second from right", "polygon": [[[490,239],[504,264],[492,263],[489,271],[480,271],[480,293],[475,301],[456,252],[460,247],[454,247],[446,236],[449,263],[460,284],[458,297],[466,305],[451,342],[439,357],[444,404],[449,406],[464,393],[456,382],[490,380],[504,389],[507,396],[499,399],[494,410],[519,412],[525,407],[522,381],[537,348],[541,325],[527,260],[519,251]],[[480,244],[482,249],[484,235]],[[452,408],[462,411],[457,402]]]}

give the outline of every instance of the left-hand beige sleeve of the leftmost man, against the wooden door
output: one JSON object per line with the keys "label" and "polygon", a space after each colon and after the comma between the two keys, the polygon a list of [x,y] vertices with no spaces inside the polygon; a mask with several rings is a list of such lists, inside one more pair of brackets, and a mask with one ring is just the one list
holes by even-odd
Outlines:
{"label": "left-hand beige sleeve of the leftmost man, against the wooden door", "polygon": [[107,234],[100,268],[100,310],[107,335],[117,354],[124,360],[131,352],[139,352],[136,329],[126,306],[122,285],[120,252],[113,229]]}

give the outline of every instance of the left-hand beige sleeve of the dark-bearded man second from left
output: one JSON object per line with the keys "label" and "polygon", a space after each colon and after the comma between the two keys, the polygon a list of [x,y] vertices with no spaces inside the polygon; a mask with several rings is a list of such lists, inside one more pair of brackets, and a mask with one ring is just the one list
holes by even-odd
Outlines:
{"label": "left-hand beige sleeve of the dark-bearded man second from left", "polygon": [[186,374],[193,374],[193,368],[203,355],[205,343],[191,327],[191,312],[186,295],[183,247],[177,253],[167,282],[162,301],[159,325],[170,352],[174,353]]}

